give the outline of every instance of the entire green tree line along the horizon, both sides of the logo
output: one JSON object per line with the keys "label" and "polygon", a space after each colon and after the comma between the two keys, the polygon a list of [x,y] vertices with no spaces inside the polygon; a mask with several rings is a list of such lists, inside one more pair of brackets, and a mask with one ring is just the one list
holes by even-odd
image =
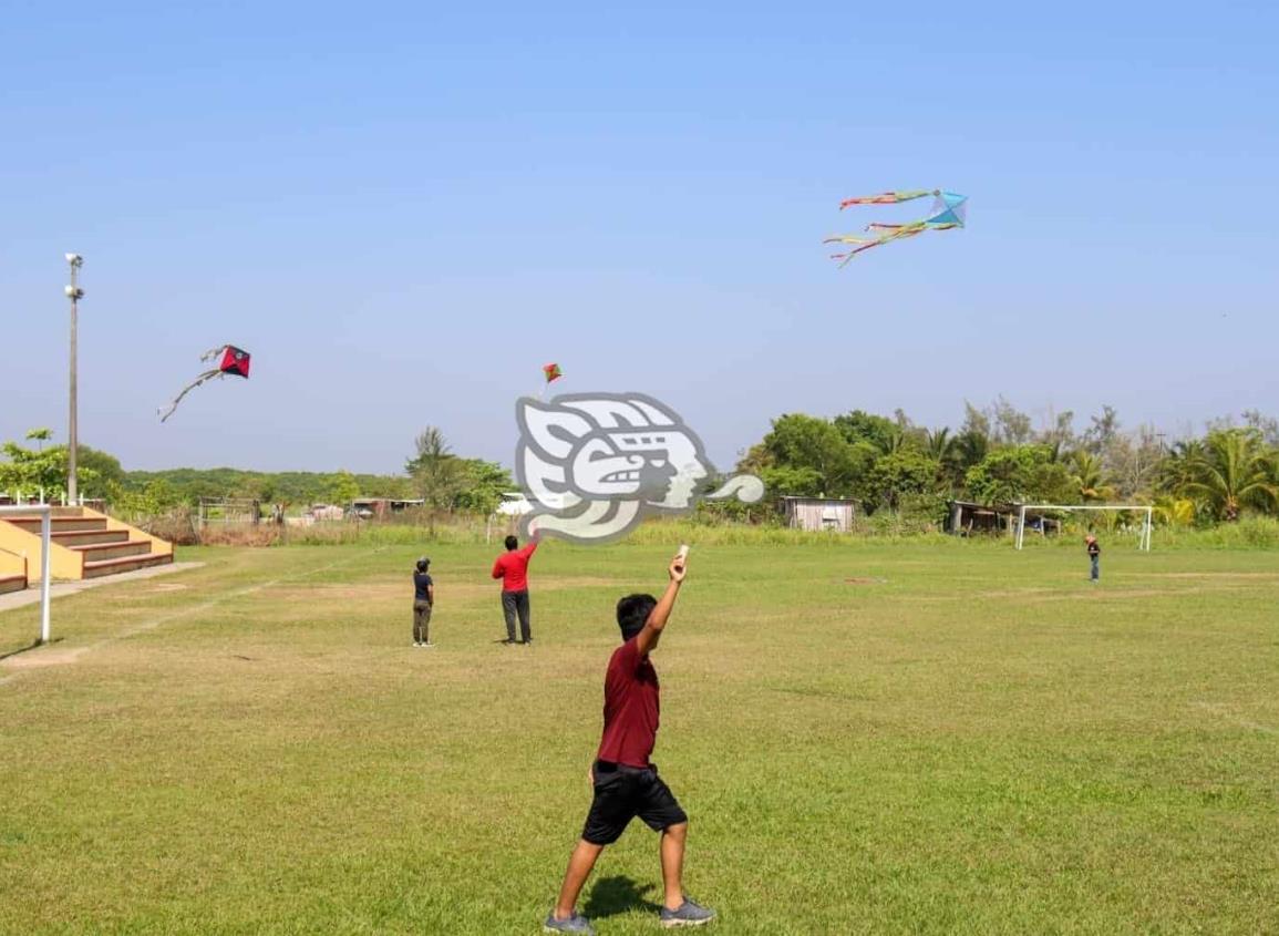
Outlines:
{"label": "entire green tree line along the horizon, both sides of the logo", "polygon": [[[1141,503],[1163,522],[1210,526],[1247,514],[1279,515],[1279,421],[1248,410],[1211,422],[1202,435],[1169,441],[1150,426],[1126,431],[1115,410],[1077,427],[1064,412],[1035,427],[1003,398],[964,404],[958,430],[916,425],[904,412],[854,409],[833,418],[787,413],[738,464],[770,496],[851,497],[863,513],[889,510],[940,520],[950,499],[982,504]],[[56,496],[67,485],[67,446],[45,428],[0,446],[0,492]],[[81,487],[90,496],[153,511],[200,497],[251,497],[293,508],[347,505],[357,497],[422,499],[431,515],[487,513],[510,472],[457,455],[426,427],[399,474],[255,472],[239,468],[124,471],[113,455],[81,446]],[[742,511],[724,509],[726,515]]]}

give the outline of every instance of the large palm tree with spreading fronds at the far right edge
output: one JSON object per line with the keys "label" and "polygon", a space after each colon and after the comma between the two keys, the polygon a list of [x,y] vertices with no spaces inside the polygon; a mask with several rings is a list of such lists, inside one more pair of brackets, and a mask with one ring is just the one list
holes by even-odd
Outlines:
{"label": "large palm tree with spreading fronds at the far right edge", "polygon": [[1210,432],[1202,451],[1187,467],[1187,494],[1201,496],[1220,518],[1239,519],[1244,506],[1279,506],[1274,454],[1256,430]]}

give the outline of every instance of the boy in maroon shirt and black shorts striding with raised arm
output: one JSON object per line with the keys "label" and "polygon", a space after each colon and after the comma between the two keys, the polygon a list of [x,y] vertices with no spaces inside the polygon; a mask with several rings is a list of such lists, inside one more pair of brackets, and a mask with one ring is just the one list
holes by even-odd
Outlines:
{"label": "boy in maroon shirt and black shorts striding with raised arm", "polygon": [[582,839],[564,872],[559,900],[546,917],[544,930],[547,932],[595,932],[590,921],[576,909],[578,894],[604,846],[616,841],[636,816],[661,832],[663,926],[700,926],[715,918],[714,910],[684,895],[688,815],[657,776],[657,765],[648,760],[657,740],[661,708],[657,671],[648,655],[656,650],[675,606],[687,561],[684,551],[671,560],[670,582],[660,600],[651,595],[628,595],[618,602],[623,644],[609,660],[604,679],[604,737],[587,774],[595,798]]}

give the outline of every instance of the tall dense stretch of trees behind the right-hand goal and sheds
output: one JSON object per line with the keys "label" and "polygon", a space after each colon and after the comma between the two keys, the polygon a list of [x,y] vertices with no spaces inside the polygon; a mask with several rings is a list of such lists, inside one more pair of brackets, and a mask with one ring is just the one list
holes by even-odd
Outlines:
{"label": "tall dense stretch of trees behind the right-hand goal and sheds", "polygon": [[941,519],[945,503],[1142,503],[1170,523],[1279,514],[1279,422],[1256,410],[1168,442],[1150,426],[1123,431],[1111,407],[1076,427],[1072,412],[1036,428],[1000,398],[966,403],[958,431],[859,409],[834,418],[788,413],[738,464],[774,496],[857,500],[863,511]]}

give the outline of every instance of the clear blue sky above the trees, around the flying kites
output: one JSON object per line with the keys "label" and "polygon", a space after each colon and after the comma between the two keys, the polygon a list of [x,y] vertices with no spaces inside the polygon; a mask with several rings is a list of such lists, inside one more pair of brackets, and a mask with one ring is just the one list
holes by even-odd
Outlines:
{"label": "clear blue sky above the trees, around the flying kites", "polygon": [[[721,467],[796,410],[1279,413],[1276,9],[9,0],[0,439],[65,437],[67,251],[127,468],[509,463],[550,361]],[[825,258],[934,187],[968,229]]]}

